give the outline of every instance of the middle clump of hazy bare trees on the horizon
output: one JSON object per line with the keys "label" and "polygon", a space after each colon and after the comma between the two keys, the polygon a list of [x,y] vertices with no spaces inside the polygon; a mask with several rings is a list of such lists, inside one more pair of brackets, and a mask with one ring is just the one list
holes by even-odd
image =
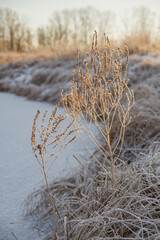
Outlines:
{"label": "middle clump of hazy bare trees on the horizon", "polygon": [[93,30],[97,29],[99,38],[104,32],[111,33],[115,16],[110,11],[99,12],[93,7],[54,12],[48,26],[37,30],[38,44],[54,48],[59,44],[87,45]]}

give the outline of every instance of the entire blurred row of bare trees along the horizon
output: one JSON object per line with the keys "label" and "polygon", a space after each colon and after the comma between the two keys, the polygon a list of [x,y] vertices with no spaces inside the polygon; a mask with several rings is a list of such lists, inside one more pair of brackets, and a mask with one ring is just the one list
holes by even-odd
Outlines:
{"label": "entire blurred row of bare trees along the horizon", "polygon": [[[121,39],[136,39],[148,44],[155,38],[156,31],[156,37],[160,37],[160,24],[155,26],[155,15],[145,7],[132,9],[130,14],[124,13],[121,25]],[[33,34],[27,21],[20,19],[17,12],[0,8],[0,51],[23,52],[35,47],[52,50],[59,45],[86,46],[94,29],[98,31],[99,42],[104,32],[113,35],[118,30],[116,16],[111,11],[100,12],[93,7],[54,12],[47,26],[39,26]]]}

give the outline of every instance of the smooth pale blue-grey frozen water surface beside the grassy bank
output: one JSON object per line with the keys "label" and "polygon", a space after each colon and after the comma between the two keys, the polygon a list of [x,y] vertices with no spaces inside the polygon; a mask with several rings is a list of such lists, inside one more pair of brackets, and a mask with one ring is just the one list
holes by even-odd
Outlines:
{"label": "smooth pale blue-grey frozen water surface beside the grassy bank", "polygon": [[[0,93],[0,240],[15,239],[11,232],[20,240],[36,239],[32,235],[36,230],[29,230],[24,222],[22,208],[27,196],[44,184],[31,149],[31,130],[37,110],[51,113],[53,108],[49,103]],[[62,108],[60,112],[63,114]],[[79,140],[69,145],[51,168],[50,179],[64,174],[64,169],[75,168],[78,163],[72,155],[83,154],[83,151]]]}

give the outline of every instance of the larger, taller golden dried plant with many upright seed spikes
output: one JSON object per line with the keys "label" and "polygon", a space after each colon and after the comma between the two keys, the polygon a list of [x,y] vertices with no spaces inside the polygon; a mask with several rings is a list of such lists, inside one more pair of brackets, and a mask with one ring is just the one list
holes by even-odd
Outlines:
{"label": "larger, taller golden dried plant with many upright seed spikes", "polygon": [[[87,150],[92,157],[106,172],[112,182],[112,191],[115,186],[115,165],[120,156],[125,129],[130,123],[130,110],[134,104],[134,93],[128,87],[127,69],[129,61],[129,51],[125,47],[126,63],[122,63],[122,51],[112,49],[108,37],[104,35],[105,48],[102,53],[98,50],[97,32],[93,35],[92,49],[84,60],[84,68],[76,67],[72,76],[70,93],[62,94],[63,107],[66,113],[70,113],[74,120],[74,126],[83,128],[91,141],[98,147],[111,166],[111,172],[96,158],[88,146]],[[117,120],[118,119],[118,120]],[[118,139],[112,141],[111,130],[115,121],[119,124]],[[90,128],[93,122],[101,135],[101,144],[94,132]],[[104,147],[105,146],[105,147]]]}

